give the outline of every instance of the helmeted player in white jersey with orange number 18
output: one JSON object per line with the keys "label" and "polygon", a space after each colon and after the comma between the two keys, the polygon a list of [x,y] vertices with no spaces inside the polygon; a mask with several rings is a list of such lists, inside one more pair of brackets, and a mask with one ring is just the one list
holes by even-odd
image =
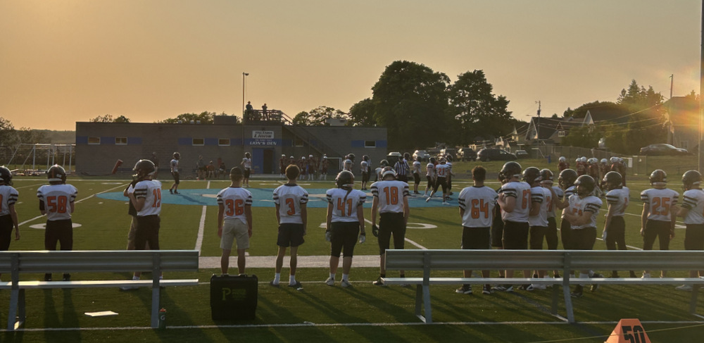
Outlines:
{"label": "helmeted player in white jersey with orange number 18", "polygon": [[[382,180],[372,183],[372,234],[379,237],[379,279],[374,285],[383,286],[382,277],[386,277],[386,249],[394,236],[394,249],[403,249],[406,239],[406,223],[410,211],[408,208],[408,183],[396,180],[396,171],[384,167]],[[377,212],[379,227],[377,227]],[[405,273],[401,270],[401,277]]]}

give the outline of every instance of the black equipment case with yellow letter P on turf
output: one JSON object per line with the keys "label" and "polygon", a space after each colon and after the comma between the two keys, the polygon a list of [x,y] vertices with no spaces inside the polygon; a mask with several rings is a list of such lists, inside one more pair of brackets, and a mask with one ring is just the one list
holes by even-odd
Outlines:
{"label": "black equipment case with yellow letter P on turf", "polygon": [[213,320],[254,319],[258,282],[257,275],[210,277],[210,313]]}

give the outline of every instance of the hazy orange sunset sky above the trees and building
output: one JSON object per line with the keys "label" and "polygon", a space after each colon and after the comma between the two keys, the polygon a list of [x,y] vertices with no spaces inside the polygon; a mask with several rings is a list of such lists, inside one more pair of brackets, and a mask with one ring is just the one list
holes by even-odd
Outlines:
{"label": "hazy orange sunset sky above the trees and building", "polygon": [[75,130],[111,114],[153,123],[348,111],[391,62],[482,69],[520,120],[615,101],[635,79],[699,92],[695,0],[0,0],[0,117]]}

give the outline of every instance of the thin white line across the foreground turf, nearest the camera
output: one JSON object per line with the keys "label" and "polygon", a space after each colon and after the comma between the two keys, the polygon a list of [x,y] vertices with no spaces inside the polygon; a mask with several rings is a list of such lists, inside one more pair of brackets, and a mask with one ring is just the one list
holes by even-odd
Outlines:
{"label": "thin white line across the foreground turf, nearest the camera", "polygon": [[[583,325],[616,325],[617,321],[593,321],[593,322],[577,322]],[[641,324],[704,324],[702,320],[641,320]],[[572,325],[571,323],[559,322],[534,322],[534,321],[515,321],[515,322],[434,322],[434,323],[295,323],[295,324],[241,324],[241,325],[182,325],[168,326],[170,330],[177,329],[258,329],[258,328],[307,328],[307,327],[358,327],[358,326],[417,326],[417,325]],[[12,332],[44,332],[44,331],[115,331],[115,330],[153,330],[149,326],[127,326],[117,328],[33,328],[14,330]],[[9,332],[8,330],[0,330],[0,332]],[[606,337],[608,335],[604,335]]]}

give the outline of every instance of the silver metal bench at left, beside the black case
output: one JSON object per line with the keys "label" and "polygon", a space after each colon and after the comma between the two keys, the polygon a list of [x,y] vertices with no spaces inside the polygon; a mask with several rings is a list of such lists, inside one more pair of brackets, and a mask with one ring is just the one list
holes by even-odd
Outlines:
{"label": "silver metal bench at left, beside the black case", "polygon": [[[134,271],[151,272],[151,280],[20,280],[30,273],[43,277],[44,273]],[[0,289],[11,289],[7,330],[19,328],[25,321],[25,289],[86,287],[151,287],[151,327],[157,328],[161,287],[198,285],[198,279],[160,280],[159,275],[193,271],[198,271],[197,250],[0,251],[0,273],[11,275],[11,281],[0,282]]]}

